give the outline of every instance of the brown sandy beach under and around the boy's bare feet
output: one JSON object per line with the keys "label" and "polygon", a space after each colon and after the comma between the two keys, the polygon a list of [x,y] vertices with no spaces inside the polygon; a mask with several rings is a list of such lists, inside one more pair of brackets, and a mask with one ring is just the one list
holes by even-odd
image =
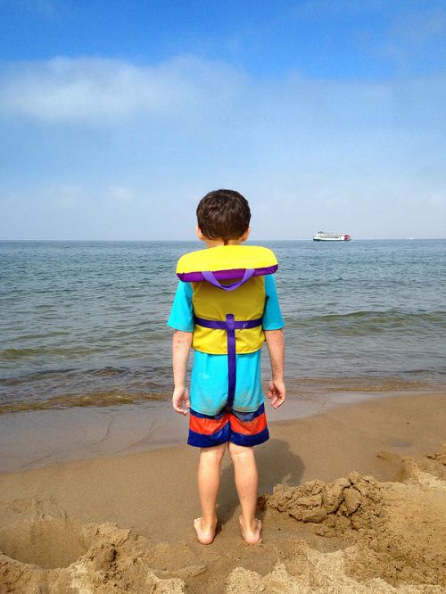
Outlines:
{"label": "brown sandy beach under and around the boy's bare feet", "polygon": [[444,393],[271,423],[256,547],[238,529],[227,457],[208,547],[192,527],[192,448],[2,474],[0,591],[444,592],[445,427]]}

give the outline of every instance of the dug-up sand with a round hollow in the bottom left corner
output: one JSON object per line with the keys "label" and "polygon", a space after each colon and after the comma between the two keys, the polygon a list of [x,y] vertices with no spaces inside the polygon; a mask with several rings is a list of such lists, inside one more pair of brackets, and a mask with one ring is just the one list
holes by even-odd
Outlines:
{"label": "dug-up sand with a round hollow in the bottom left corner", "polygon": [[23,503],[12,502],[20,518],[1,531],[0,539],[9,544],[8,552],[16,558],[0,554],[0,584],[5,588],[0,591],[185,591],[183,580],[162,579],[153,573],[153,545],[144,536],[116,524],[79,524],[48,500],[34,499],[28,510]]}

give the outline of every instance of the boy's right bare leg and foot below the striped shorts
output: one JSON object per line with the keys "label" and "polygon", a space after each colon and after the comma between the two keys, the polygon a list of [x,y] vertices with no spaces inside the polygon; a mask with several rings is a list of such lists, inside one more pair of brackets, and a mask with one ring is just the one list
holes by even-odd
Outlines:
{"label": "boy's right bare leg and foot below the striped shorts", "polygon": [[240,525],[244,540],[248,544],[256,544],[260,541],[261,522],[255,516],[259,479],[254,449],[231,441],[227,449],[234,464],[235,487],[242,507]]}

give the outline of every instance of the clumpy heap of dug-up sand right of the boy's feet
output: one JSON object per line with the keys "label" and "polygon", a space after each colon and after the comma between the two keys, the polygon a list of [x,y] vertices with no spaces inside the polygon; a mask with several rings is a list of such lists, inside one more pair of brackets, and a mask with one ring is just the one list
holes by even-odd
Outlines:
{"label": "clumpy heap of dug-up sand right of the boy's feet", "polygon": [[[265,507],[317,524],[319,535],[342,535],[351,546],[322,554],[296,541],[297,575],[278,563],[265,578],[251,575],[248,582],[257,584],[252,591],[334,591],[328,584],[343,592],[446,591],[445,454],[446,444],[426,458],[403,458],[402,483],[352,472],[333,483],[277,485],[262,498]],[[232,573],[229,591],[251,591],[236,585],[243,576],[246,581],[243,571]]]}

